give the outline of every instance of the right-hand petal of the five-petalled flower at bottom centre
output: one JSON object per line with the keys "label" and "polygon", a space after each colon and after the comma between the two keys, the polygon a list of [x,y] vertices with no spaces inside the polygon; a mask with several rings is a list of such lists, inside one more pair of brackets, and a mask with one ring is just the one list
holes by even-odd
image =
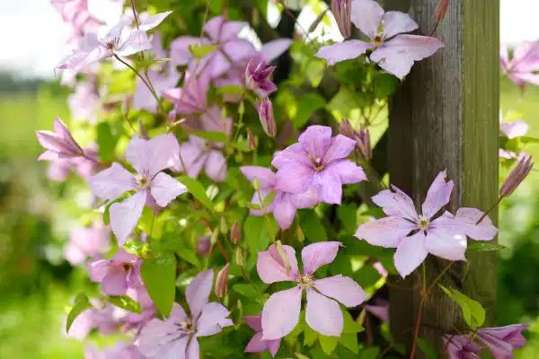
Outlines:
{"label": "right-hand petal of the five-petalled flower at bottom centre", "polygon": [[314,281],[314,288],[347,307],[356,307],[368,298],[363,289],[348,276],[339,275],[317,279]]}

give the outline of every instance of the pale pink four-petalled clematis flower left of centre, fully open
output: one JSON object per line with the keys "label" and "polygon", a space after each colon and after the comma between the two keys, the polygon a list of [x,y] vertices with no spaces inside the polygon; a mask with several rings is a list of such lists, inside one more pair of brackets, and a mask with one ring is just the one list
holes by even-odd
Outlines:
{"label": "pale pink four-petalled clematis flower left of centre, fully open", "polygon": [[136,175],[114,162],[110,168],[88,180],[93,194],[105,199],[135,191],[133,196],[110,206],[110,226],[120,245],[137,226],[146,201],[153,203],[155,200],[158,206],[165,207],[186,191],[180,182],[162,172],[172,165],[177,148],[178,141],[172,134],[156,136],[149,141],[134,137],[128,144],[126,157],[137,170]]}

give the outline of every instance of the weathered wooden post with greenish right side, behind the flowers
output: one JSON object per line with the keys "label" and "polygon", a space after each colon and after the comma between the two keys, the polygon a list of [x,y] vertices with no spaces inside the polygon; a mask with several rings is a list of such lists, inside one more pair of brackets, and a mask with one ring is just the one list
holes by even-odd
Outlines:
{"label": "weathered wooden post with greenish right side, behind the flowers", "polygon": [[[421,35],[433,28],[438,0],[385,0],[384,7],[410,11]],[[439,171],[455,181],[451,211],[487,210],[497,199],[499,146],[499,2],[451,1],[434,35],[446,47],[417,63],[395,94],[390,109],[388,165],[391,182],[416,206]],[[490,215],[494,222],[496,214]],[[469,241],[470,242],[470,241]],[[492,325],[496,296],[494,252],[468,254],[441,281],[482,303]],[[431,283],[448,262],[429,256]],[[390,287],[393,336],[408,349],[420,300],[417,271]],[[398,287],[397,287],[398,286]],[[402,288],[404,287],[404,288]],[[445,357],[443,333],[464,328],[460,308],[435,288],[422,313],[420,337]],[[424,357],[418,351],[416,357]]]}

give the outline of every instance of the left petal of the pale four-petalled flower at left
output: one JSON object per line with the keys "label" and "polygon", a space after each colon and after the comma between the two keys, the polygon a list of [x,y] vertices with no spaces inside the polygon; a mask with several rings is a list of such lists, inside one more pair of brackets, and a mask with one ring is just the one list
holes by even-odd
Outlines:
{"label": "left petal of the pale four-petalled flower at left", "polygon": [[94,174],[88,183],[95,196],[112,199],[122,193],[137,188],[135,178],[119,163],[112,163],[107,169]]}

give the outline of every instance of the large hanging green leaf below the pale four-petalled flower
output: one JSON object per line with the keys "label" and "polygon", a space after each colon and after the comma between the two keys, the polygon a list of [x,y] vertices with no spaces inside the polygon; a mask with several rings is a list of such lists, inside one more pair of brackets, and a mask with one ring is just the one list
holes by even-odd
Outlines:
{"label": "large hanging green leaf below the pale four-petalled flower", "polygon": [[158,258],[146,259],[140,273],[155,307],[168,317],[176,293],[176,257],[163,252]]}

